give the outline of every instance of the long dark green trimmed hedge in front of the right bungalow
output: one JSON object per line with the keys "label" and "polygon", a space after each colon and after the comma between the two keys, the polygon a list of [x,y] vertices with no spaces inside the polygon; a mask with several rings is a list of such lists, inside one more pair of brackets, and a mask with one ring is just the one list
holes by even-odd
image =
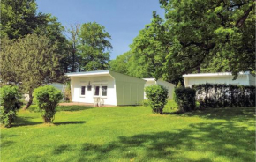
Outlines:
{"label": "long dark green trimmed hedge in front of the right bungalow", "polygon": [[192,88],[202,108],[255,106],[255,86],[200,84]]}

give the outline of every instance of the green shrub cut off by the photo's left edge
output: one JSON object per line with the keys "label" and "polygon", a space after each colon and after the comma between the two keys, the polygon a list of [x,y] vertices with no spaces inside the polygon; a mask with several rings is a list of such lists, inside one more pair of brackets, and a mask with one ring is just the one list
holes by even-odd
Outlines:
{"label": "green shrub cut off by the photo's left edge", "polygon": [[17,110],[21,107],[21,94],[17,86],[4,85],[0,88],[0,122],[11,127]]}

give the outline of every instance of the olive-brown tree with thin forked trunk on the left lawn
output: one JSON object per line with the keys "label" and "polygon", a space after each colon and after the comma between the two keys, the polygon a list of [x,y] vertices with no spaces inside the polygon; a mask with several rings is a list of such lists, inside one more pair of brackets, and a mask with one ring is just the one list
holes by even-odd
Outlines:
{"label": "olive-brown tree with thin forked trunk on the left lawn", "polygon": [[28,34],[17,40],[2,40],[0,74],[4,83],[19,85],[28,92],[32,104],[35,88],[64,79],[56,54],[56,44],[43,35]]}

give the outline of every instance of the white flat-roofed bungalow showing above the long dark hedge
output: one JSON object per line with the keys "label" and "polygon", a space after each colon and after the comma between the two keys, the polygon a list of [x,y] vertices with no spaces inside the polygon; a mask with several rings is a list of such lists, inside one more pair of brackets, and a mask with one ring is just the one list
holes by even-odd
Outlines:
{"label": "white flat-roofed bungalow showing above the long dark hedge", "polygon": [[206,83],[255,86],[255,76],[250,72],[240,72],[236,80],[233,80],[231,72],[186,74],[183,77],[185,87]]}

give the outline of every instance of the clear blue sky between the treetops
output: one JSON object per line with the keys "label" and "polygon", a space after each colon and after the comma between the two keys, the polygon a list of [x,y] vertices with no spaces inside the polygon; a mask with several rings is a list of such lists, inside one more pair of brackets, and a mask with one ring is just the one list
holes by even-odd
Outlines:
{"label": "clear blue sky between the treetops", "polygon": [[110,59],[124,54],[139,30],[150,23],[152,11],[162,17],[158,0],[37,0],[38,11],[51,13],[63,26],[97,22],[112,39]]}

